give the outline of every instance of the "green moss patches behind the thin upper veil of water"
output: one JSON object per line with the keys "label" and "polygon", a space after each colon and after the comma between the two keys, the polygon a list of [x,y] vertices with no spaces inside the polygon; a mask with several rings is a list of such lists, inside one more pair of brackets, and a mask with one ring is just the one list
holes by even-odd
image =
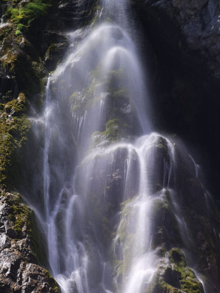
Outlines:
{"label": "green moss patches behind the thin upper veil of water", "polygon": [[105,76],[101,76],[100,70],[99,64],[90,73],[92,82],[89,88],[82,92],[74,92],[70,96],[72,113],[83,116],[85,110],[97,106],[97,103],[103,98],[102,94],[106,94],[108,101],[106,110],[110,114],[110,119],[106,122],[105,131],[96,132],[93,135],[91,147],[95,147],[103,141],[105,141],[105,145],[117,142],[121,137],[126,137],[131,132],[131,127],[123,119],[126,115],[119,110],[119,105],[129,103],[125,88],[119,87],[119,84],[123,84],[124,72],[122,69],[111,70]]}

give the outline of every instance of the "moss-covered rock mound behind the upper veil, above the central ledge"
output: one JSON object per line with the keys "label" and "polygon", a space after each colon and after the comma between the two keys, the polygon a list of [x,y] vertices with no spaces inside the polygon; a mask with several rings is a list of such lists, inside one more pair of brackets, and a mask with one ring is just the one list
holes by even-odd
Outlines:
{"label": "moss-covered rock mound behind the upper veil, above the central ledge", "polygon": [[[89,75],[89,87],[72,93],[70,105],[73,121],[83,119],[87,131],[91,128],[91,148],[104,147],[119,142],[122,138],[133,140],[139,124],[131,102],[132,97],[125,89],[124,70],[110,70],[103,75],[101,64],[98,64]],[[92,126],[85,121],[91,113],[96,113],[96,116],[99,113],[99,120],[94,119]],[[82,135],[79,126],[74,126],[75,136]]]}

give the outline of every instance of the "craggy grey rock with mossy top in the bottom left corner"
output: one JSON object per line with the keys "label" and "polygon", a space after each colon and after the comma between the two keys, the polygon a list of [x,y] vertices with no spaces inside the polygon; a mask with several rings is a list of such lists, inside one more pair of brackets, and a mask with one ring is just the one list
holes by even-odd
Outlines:
{"label": "craggy grey rock with mossy top in the bottom left corner", "polygon": [[18,194],[0,197],[0,291],[57,293],[59,289],[43,264],[45,251],[33,211]]}

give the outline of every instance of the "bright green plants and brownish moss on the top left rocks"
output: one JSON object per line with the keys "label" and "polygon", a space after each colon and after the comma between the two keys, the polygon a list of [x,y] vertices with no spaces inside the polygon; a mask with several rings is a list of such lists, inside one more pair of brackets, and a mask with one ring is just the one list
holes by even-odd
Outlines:
{"label": "bright green plants and brownish moss on the top left rocks", "polygon": [[1,46],[1,55],[4,58],[0,60],[0,71],[4,76],[8,75],[12,83],[14,79],[27,96],[33,96],[44,90],[45,85],[41,85],[40,80],[46,73],[38,48],[28,41],[28,39],[32,41],[28,35],[28,28],[33,19],[46,15],[38,13],[39,7],[47,10],[50,2],[49,0],[29,0],[19,6],[8,6],[6,16],[11,24],[10,27],[2,28],[0,32],[0,42],[4,40]]}

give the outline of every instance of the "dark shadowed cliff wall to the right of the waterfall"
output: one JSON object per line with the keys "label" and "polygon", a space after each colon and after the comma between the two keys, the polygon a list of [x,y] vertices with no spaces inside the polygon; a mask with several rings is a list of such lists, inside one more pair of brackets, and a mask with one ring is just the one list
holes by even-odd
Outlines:
{"label": "dark shadowed cliff wall to the right of the waterfall", "polygon": [[[160,113],[155,117],[158,129],[164,127],[199,146],[201,154],[197,150],[195,158],[205,167],[209,190],[217,196],[219,1],[138,0],[133,6],[155,53],[152,102]],[[149,59],[149,51],[145,54]]]}

